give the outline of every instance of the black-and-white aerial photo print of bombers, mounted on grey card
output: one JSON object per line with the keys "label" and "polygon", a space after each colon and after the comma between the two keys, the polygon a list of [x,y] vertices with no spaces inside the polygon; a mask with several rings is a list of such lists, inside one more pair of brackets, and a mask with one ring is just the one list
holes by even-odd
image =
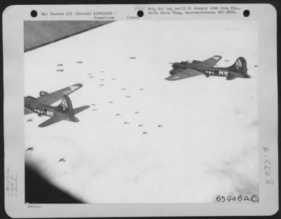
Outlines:
{"label": "black-and-white aerial photo print of bombers, mounted on grey card", "polygon": [[254,21],[26,20],[22,50],[25,203],[258,202]]}

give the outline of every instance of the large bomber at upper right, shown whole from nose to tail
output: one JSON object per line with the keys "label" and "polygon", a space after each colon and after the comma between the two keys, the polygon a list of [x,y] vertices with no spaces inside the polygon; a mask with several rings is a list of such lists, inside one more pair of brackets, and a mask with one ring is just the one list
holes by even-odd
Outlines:
{"label": "large bomber at upper right, shown whole from nose to tail", "polygon": [[173,69],[170,70],[169,77],[166,80],[181,80],[187,77],[194,77],[197,75],[219,76],[226,77],[226,80],[233,80],[237,77],[250,78],[247,73],[247,62],[243,57],[237,58],[235,63],[230,67],[221,68],[214,67],[218,61],[221,60],[221,56],[213,56],[205,61],[182,61],[181,63],[172,63]]}

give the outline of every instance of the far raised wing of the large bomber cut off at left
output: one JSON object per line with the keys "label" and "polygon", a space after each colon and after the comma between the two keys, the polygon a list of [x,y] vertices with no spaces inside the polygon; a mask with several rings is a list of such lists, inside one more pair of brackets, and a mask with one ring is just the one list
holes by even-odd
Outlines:
{"label": "far raised wing of the large bomber cut off at left", "polygon": [[42,104],[51,105],[51,104],[55,103],[56,101],[59,101],[60,99],[62,99],[64,95],[71,94],[72,92],[75,92],[77,89],[79,89],[81,87],[83,87],[83,85],[81,85],[81,84],[71,85],[70,87],[65,87],[56,92],[52,92],[50,94],[45,94],[44,96],[39,96],[37,99]]}

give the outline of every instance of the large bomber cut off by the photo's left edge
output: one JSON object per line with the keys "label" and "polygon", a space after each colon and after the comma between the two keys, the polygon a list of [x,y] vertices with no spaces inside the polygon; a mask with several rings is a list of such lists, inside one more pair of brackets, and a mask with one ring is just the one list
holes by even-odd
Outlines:
{"label": "large bomber cut off by the photo's left edge", "polygon": [[[81,88],[83,85],[76,84],[70,87],[65,87],[56,92],[48,93],[41,91],[39,97],[34,98],[32,96],[25,96],[25,115],[30,113],[37,113],[39,116],[46,115],[49,118],[44,123],[41,123],[39,127],[46,127],[54,123],[58,123],[61,120],[68,120],[74,123],[79,122],[79,119],[74,115],[86,110],[90,106],[81,106],[78,108],[72,108],[72,102],[67,96],[77,89]],[[60,105],[51,106],[56,101],[62,99]]]}

